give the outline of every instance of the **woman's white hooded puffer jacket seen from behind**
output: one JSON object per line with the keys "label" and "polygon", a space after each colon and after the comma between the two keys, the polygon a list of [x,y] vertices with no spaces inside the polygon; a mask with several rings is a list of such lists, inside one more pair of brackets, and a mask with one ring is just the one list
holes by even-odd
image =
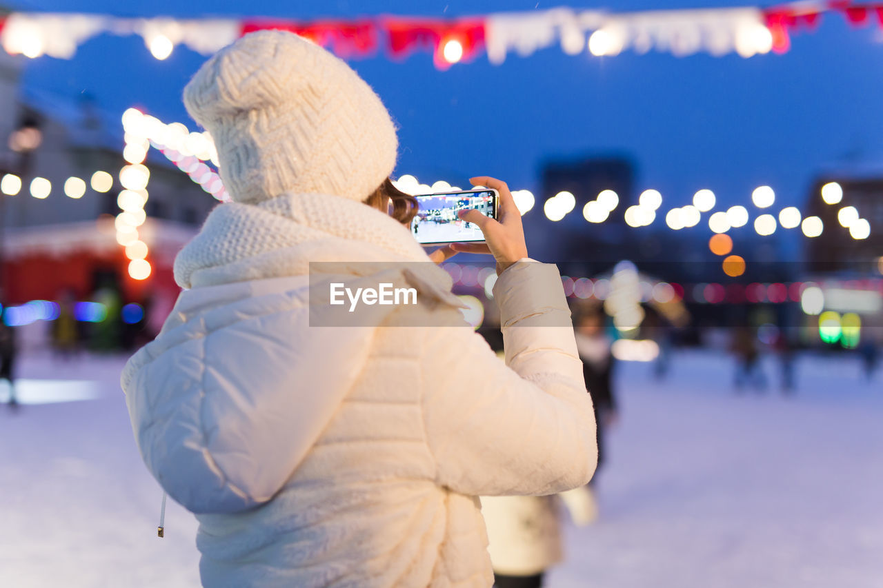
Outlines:
{"label": "woman's white hooded puffer jacket seen from behind", "polygon": [[[321,260],[427,258],[356,201],[221,205],[176,261],[190,290],[125,367],[147,467],[200,521],[203,584],[489,586],[475,496],[553,494],[594,471],[557,270],[521,261],[497,281],[507,366],[428,262],[395,280],[419,306],[379,328],[311,327],[323,311],[307,268]],[[427,313],[452,326],[406,326]]]}

